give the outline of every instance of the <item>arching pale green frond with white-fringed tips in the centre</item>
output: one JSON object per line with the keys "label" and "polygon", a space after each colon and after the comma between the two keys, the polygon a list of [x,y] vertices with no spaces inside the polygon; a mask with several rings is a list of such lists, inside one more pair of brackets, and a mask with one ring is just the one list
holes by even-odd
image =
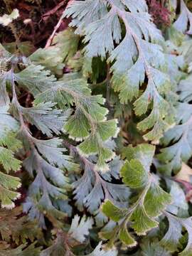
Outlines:
{"label": "arching pale green frond with white-fringed tips in the centre", "polygon": [[[42,87],[42,93],[37,95],[35,102],[55,101],[59,107],[75,103],[75,112],[64,125],[64,131],[72,139],[84,140],[78,146],[82,156],[97,155],[97,169],[107,171],[109,167],[106,162],[114,157],[114,152],[105,146],[105,142],[117,137],[119,129],[116,119],[106,121],[108,111],[102,106],[105,100],[101,95],[90,95],[85,80],[74,80],[71,76],[55,82],[55,85],[53,83],[53,87]],[[80,129],[76,128],[77,125]]]}

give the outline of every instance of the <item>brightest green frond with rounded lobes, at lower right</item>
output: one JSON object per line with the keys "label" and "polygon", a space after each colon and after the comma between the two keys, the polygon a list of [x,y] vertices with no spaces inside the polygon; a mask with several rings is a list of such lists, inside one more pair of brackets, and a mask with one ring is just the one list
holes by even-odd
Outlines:
{"label": "brightest green frond with rounded lobes, at lower right", "polygon": [[142,192],[130,208],[120,209],[110,201],[102,204],[102,212],[108,218],[121,223],[115,230],[110,231],[110,238],[106,237],[105,230],[101,233],[102,238],[110,240],[108,242],[110,247],[118,238],[128,247],[136,245],[137,242],[129,234],[127,228],[131,226],[137,235],[146,235],[147,231],[158,225],[154,218],[161,215],[166,206],[171,203],[171,196],[159,186],[158,178],[149,174],[154,146],[139,145],[135,148],[129,146],[125,154],[129,156],[129,161],[121,170],[123,181],[131,188],[142,189]]}

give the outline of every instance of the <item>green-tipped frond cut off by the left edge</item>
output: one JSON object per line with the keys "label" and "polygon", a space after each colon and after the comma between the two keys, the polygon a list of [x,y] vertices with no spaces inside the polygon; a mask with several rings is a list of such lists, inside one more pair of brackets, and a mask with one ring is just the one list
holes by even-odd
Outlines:
{"label": "green-tipped frond cut off by the left edge", "polygon": [[18,124],[7,112],[8,108],[7,105],[0,107],[0,164],[4,168],[0,172],[0,201],[2,208],[13,208],[15,206],[13,201],[20,196],[16,189],[21,186],[20,179],[9,174],[11,170],[18,171],[21,167],[21,162],[14,157],[14,151],[21,144],[14,134],[18,129]]}

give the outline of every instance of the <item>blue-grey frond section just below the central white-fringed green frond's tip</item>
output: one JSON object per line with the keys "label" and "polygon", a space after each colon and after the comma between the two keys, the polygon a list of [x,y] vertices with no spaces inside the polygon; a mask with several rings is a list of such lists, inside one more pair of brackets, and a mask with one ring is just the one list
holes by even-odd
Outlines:
{"label": "blue-grey frond section just below the central white-fringed green frond's tip", "polygon": [[[118,163],[119,159],[114,159],[113,161]],[[119,176],[116,178],[119,178]],[[106,179],[106,174],[103,176],[97,174],[94,164],[87,161],[83,176],[73,183],[75,188],[73,193],[79,210],[83,210],[83,207],[86,207],[90,213],[97,214],[102,200],[107,198],[117,206],[124,206],[129,197],[129,189],[124,185],[108,182]],[[105,217],[100,213],[95,216],[95,219],[97,225],[102,225],[103,222],[106,222]]]}

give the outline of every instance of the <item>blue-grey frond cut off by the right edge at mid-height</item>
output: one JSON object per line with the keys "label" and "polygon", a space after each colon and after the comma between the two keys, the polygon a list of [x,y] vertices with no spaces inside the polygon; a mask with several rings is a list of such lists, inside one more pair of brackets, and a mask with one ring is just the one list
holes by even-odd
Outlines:
{"label": "blue-grey frond cut off by the right edge at mid-height", "polygon": [[[158,158],[164,161],[164,169],[171,171],[178,171],[181,169],[182,161],[186,162],[191,157],[191,104],[188,102],[191,99],[190,96],[190,84],[191,75],[186,80],[181,80],[178,85],[178,91],[180,91],[180,102],[177,107],[176,126],[169,129],[161,143],[166,146],[161,149],[161,154]],[[169,145],[170,142],[173,144]]]}

